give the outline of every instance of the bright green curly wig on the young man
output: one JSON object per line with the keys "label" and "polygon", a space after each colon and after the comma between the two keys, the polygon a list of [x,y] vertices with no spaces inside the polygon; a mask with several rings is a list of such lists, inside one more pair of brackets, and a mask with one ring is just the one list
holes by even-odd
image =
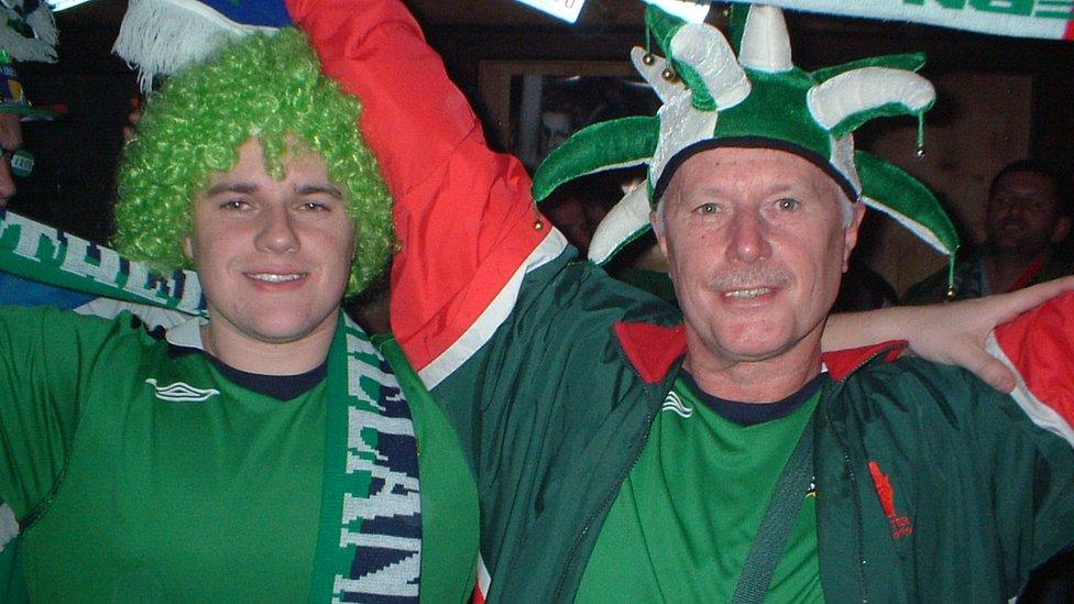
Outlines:
{"label": "bright green curly wig on the young man", "polygon": [[361,292],[387,261],[391,197],[358,131],[361,106],[324,76],[304,34],[294,29],[231,44],[207,63],[172,77],[146,106],[119,172],[113,245],[162,270],[193,268],[183,240],[194,230],[194,200],[215,172],[239,161],[256,138],[273,178],[288,140],[320,155],[354,220],[354,260],[347,294]]}

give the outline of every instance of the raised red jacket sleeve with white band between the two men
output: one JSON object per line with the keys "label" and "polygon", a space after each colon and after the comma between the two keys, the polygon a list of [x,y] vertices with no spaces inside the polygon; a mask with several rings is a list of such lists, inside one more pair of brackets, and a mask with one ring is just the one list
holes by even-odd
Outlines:
{"label": "raised red jacket sleeve with white band between the two men", "polygon": [[392,268],[392,329],[404,351],[420,372],[452,347],[481,345],[509,312],[512,284],[566,245],[535,228],[529,176],[489,150],[402,2],[288,0],[287,8],[325,73],[363,103],[362,132],[395,198],[402,251]]}

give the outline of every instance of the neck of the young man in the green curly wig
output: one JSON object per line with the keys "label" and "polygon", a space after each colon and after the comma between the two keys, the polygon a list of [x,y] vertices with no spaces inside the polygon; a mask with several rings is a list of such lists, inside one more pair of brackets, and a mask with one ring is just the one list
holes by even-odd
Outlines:
{"label": "neck of the young man in the green curly wig", "polygon": [[298,375],[325,362],[336,336],[336,315],[314,331],[288,342],[265,342],[228,329],[226,321],[201,326],[205,351],[224,364],[260,375]]}

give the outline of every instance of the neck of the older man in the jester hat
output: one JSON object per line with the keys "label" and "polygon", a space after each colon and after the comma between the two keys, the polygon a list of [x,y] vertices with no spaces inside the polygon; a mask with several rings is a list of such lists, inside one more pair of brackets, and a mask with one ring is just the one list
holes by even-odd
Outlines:
{"label": "neck of the older man in the jester hat", "polygon": [[801,389],[821,371],[819,338],[763,360],[727,360],[708,350],[695,354],[688,340],[683,366],[702,391],[742,403],[772,403]]}

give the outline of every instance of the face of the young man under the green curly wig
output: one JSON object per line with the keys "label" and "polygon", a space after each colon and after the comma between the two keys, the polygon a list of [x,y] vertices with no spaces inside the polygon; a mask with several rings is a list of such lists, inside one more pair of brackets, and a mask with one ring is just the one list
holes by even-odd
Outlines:
{"label": "face of the young man under the green curly wig", "polygon": [[286,177],[265,172],[261,144],[215,174],[195,202],[186,243],[205,288],[210,329],[284,343],[336,326],[354,253],[354,226],[339,187],[315,155],[288,155]]}

